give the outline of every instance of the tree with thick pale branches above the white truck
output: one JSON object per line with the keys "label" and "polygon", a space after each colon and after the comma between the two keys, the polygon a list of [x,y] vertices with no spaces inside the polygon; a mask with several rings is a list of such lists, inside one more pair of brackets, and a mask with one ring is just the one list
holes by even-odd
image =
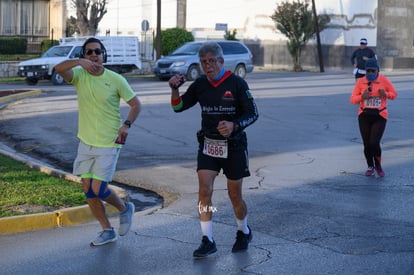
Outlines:
{"label": "tree with thick pale branches above the white truck", "polygon": [[98,24],[106,14],[107,0],[71,0],[76,9],[76,18],[69,18],[70,25],[66,27],[71,33],[73,30],[79,32],[81,36],[95,35]]}

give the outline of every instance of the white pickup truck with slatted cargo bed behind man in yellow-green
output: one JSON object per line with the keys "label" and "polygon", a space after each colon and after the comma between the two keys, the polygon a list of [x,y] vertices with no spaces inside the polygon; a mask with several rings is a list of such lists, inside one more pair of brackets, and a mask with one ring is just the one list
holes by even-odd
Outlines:
{"label": "white pickup truck with slatted cargo bed behind man in yellow-green", "polygon": [[[26,83],[36,85],[41,79],[50,79],[61,85],[63,78],[55,72],[55,66],[67,59],[79,58],[82,45],[89,37],[66,37],[59,45],[48,49],[41,57],[22,61],[18,65],[18,76],[25,77]],[[139,41],[136,36],[97,36],[105,46],[107,62],[103,65],[118,73],[141,69]]]}

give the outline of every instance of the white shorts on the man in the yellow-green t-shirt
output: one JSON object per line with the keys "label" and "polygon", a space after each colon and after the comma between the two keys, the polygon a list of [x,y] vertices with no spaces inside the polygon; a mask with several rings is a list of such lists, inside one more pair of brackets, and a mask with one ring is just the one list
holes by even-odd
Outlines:
{"label": "white shorts on the man in the yellow-green t-shirt", "polygon": [[79,142],[78,155],[73,163],[73,174],[110,182],[115,174],[120,148],[103,148]]}

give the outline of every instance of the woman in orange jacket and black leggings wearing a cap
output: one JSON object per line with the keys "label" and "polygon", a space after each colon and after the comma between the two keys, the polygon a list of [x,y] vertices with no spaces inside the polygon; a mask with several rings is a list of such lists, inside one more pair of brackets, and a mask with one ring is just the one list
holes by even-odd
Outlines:
{"label": "woman in orange jacket and black leggings wearing a cap", "polygon": [[380,142],[388,119],[387,99],[394,100],[397,91],[388,78],[379,74],[376,59],[368,59],[365,70],[365,77],[355,83],[350,101],[360,106],[358,123],[368,165],[365,175],[372,176],[377,172],[379,177],[383,177]]}

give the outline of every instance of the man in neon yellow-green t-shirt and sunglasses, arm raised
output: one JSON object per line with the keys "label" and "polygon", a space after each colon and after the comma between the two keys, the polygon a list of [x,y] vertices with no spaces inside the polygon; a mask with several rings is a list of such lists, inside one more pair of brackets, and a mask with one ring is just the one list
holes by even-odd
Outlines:
{"label": "man in neon yellow-green t-shirt and sunglasses, arm raised", "polygon": [[[128,130],[141,111],[141,103],[121,75],[105,69],[106,50],[99,39],[85,41],[82,58],[66,60],[56,65],[56,72],[76,88],[78,95],[78,154],[73,173],[80,175],[88,205],[103,231],[91,242],[92,246],[114,242],[114,228],[105,213],[103,201],[120,211],[119,235],[128,233],[134,204],[123,202],[108,187],[115,173],[122,144]],[[122,122],[120,100],[129,105]]]}

